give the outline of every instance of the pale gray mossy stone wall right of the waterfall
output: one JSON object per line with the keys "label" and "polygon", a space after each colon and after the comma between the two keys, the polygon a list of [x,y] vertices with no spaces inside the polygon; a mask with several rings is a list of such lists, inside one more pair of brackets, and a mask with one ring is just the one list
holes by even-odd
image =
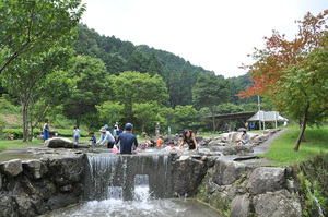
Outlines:
{"label": "pale gray mossy stone wall right of the waterfall", "polygon": [[302,216],[300,188],[285,168],[214,159],[197,198],[225,215]]}

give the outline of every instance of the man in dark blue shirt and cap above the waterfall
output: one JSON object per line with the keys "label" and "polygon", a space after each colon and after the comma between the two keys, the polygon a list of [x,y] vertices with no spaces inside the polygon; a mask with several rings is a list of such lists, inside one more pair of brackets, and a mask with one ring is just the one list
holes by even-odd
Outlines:
{"label": "man in dark blue shirt and cap above the waterfall", "polygon": [[119,154],[132,154],[138,147],[138,141],[136,135],[132,134],[133,125],[127,123],[125,125],[125,132],[118,135],[116,145],[118,146]]}

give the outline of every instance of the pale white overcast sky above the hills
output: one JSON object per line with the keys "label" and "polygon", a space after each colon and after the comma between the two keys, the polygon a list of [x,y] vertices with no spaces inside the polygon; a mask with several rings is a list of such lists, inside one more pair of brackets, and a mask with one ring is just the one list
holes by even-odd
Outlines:
{"label": "pale white overcast sky above the hills", "polygon": [[328,0],[82,0],[82,23],[105,36],[166,50],[224,77],[239,76],[272,29],[293,39],[295,20]]}

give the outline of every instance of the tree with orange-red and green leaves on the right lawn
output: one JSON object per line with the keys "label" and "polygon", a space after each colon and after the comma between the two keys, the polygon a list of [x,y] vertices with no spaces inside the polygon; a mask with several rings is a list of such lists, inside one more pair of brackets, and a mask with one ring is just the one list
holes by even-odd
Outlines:
{"label": "tree with orange-red and green leaves on the right lawn", "polygon": [[[324,64],[321,57],[325,56],[327,48],[327,16],[328,10],[317,16],[307,13],[303,21],[297,22],[300,24],[298,34],[291,41],[286,40],[284,35],[273,31],[272,36],[266,38],[266,48],[256,50],[253,55],[257,60],[253,65],[249,65],[254,86],[239,94],[242,98],[253,95],[265,96],[272,99],[272,104],[278,110],[297,113],[300,135],[294,147],[295,152],[298,150],[307,121],[319,116],[318,113],[317,116],[309,114],[312,110],[316,110],[312,108],[320,106],[316,101],[318,99],[315,97],[317,94],[308,88],[311,85],[317,87],[318,91],[323,87],[325,89],[325,85],[323,86],[319,81],[321,79],[318,79],[323,71],[315,69],[314,63]],[[319,68],[319,65],[317,67]],[[324,73],[327,74],[325,71]],[[297,88],[298,91],[296,91]],[[306,97],[303,100],[295,100],[295,98],[300,99],[304,96]],[[286,105],[285,101],[290,101],[290,99],[298,101],[297,106]],[[325,107],[321,108],[324,111],[326,110]],[[295,118],[295,116],[293,117]]]}

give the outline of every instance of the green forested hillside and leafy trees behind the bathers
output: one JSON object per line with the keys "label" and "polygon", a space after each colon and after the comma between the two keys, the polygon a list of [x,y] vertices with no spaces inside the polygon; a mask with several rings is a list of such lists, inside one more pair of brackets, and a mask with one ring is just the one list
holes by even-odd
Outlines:
{"label": "green forested hillside and leafy trees behind the bathers", "polygon": [[[91,129],[119,121],[132,122],[137,131],[152,131],[156,122],[173,131],[210,131],[211,121],[204,116],[258,109],[256,96],[243,100],[235,96],[251,85],[248,74],[224,79],[172,52],[101,36],[82,24],[72,48],[74,55],[60,71],[67,74],[65,98],[57,99],[61,104],[55,105],[57,95],[47,107],[45,100],[35,101],[36,108],[46,109],[42,117],[60,128],[65,124],[59,120],[67,118]],[[0,92],[11,94],[11,101],[17,97],[5,85],[0,85]],[[5,97],[2,100],[8,101]]]}

